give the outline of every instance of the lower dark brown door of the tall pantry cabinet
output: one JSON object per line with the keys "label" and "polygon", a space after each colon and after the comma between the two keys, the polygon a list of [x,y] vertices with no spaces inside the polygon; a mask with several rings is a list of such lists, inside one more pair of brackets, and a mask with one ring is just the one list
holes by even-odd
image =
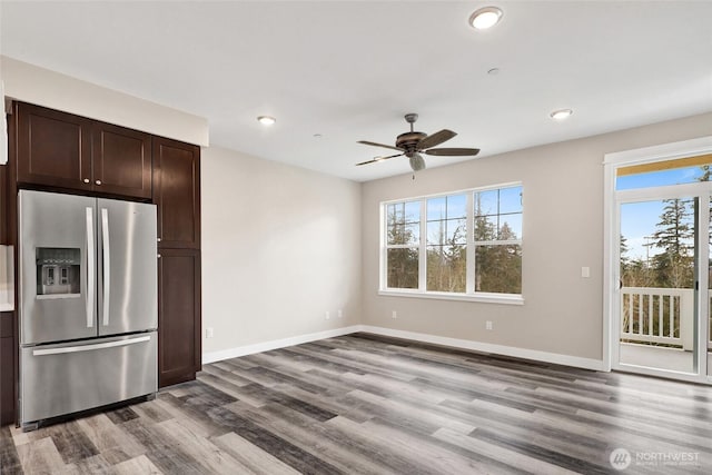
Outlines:
{"label": "lower dark brown door of the tall pantry cabinet", "polygon": [[200,370],[200,251],[161,249],[158,259],[158,385]]}

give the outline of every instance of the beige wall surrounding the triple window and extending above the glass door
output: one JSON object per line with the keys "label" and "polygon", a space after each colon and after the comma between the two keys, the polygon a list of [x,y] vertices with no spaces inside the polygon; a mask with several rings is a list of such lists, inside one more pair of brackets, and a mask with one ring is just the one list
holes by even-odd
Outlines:
{"label": "beige wall surrounding the triple window and extending above the glass door", "polygon": [[[604,154],[711,131],[708,113],[433,168],[416,180],[404,175],[364,184],[362,323],[601,359]],[[380,201],[511,181],[524,186],[523,306],[378,295]],[[590,278],[581,277],[583,266]]]}

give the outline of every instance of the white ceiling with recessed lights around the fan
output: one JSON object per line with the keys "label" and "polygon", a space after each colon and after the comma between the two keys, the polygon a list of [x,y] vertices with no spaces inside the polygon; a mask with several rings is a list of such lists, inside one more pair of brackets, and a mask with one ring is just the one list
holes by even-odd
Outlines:
{"label": "white ceiling with recessed lights around the fan", "polygon": [[[472,29],[487,4],[502,21]],[[711,1],[2,0],[0,14],[2,55],[206,117],[211,145],[357,181],[409,172],[355,167],[388,155],[356,141],[393,144],[406,112],[482,159],[712,110]],[[554,122],[560,108],[574,115]]]}

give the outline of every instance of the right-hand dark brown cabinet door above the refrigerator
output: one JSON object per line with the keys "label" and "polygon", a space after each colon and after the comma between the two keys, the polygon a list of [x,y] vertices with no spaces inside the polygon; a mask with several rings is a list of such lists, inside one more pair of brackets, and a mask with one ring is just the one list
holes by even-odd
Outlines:
{"label": "right-hand dark brown cabinet door above the refrigerator", "polygon": [[151,136],[110,123],[95,122],[91,142],[96,191],[151,197]]}

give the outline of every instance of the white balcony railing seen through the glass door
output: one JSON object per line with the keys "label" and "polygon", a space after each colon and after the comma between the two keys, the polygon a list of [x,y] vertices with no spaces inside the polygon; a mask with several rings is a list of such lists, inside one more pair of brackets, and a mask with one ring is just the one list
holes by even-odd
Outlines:
{"label": "white balcony railing seen through the glass door", "polygon": [[694,348],[694,290],[623,287],[621,340]]}

